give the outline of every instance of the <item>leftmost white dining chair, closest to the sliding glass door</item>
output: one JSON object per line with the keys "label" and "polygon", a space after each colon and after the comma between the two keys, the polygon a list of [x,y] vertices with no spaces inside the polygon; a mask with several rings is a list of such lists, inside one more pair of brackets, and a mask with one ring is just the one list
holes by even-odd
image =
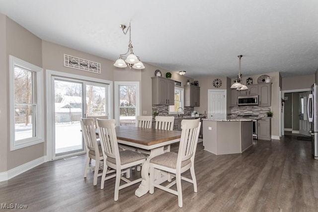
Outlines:
{"label": "leftmost white dining chair, closest to the sliding glass door", "polygon": [[[95,122],[93,118],[80,118],[80,127],[86,146],[86,162],[84,167],[84,178],[87,176],[88,169],[94,171],[93,185],[97,185],[97,177],[101,176],[102,173],[98,173],[99,169],[102,169],[103,165],[103,153],[101,146],[98,145],[96,139]],[[91,159],[95,160],[94,166],[89,166]],[[106,170],[107,173],[112,173],[115,170]]]}

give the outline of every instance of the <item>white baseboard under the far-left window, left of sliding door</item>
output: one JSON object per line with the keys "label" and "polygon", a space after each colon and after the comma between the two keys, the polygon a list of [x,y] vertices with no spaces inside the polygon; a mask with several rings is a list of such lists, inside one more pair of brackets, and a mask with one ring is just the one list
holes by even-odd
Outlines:
{"label": "white baseboard under the far-left window, left of sliding door", "polygon": [[23,172],[26,172],[42,163],[47,162],[47,156],[43,156],[40,158],[37,158],[35,160],[32,160],[30,162],[24,163],[23,165],[20,165],[18,167],[15,167],[13,169],[10,169],[6,172],[0,172],[0,182],[9,180],[12,177],[18,176],[19,174],[22,174]]}

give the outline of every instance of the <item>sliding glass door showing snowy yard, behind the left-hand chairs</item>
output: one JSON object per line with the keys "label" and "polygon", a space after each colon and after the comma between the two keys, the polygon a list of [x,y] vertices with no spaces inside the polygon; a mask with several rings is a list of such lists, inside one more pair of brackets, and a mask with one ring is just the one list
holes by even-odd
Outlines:
{"label": "sliding glass door showing snowy yard, behind the left-hand chairs", "polygon": [[108,85],[52,77],[54,98],[53,158],[85,152],[80,117],[108,116]]}

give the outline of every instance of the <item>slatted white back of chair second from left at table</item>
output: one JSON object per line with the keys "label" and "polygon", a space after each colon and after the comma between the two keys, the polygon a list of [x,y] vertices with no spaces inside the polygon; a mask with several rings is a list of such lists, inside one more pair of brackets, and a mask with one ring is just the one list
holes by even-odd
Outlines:
{"label": "slatted white back of chair second from left at table", "polygon": [[97,129],[100,138],[101,148],[103,154],[107,157],[119,159],[119,149],[117,136],[115,131],[116,121],[114,119],[96,119],[97,120]]}

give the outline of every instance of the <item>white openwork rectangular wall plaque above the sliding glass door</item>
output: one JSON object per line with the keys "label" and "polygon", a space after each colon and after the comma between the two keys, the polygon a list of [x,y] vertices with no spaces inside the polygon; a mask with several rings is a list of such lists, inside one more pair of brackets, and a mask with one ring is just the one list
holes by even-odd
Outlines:
{"label": "white openwork rectangular wall plaque above the sliding glass door", "polygon": [[100,63],[77,58],[71,55],[64,54],[64,66],[83,71],[100,73]]}

